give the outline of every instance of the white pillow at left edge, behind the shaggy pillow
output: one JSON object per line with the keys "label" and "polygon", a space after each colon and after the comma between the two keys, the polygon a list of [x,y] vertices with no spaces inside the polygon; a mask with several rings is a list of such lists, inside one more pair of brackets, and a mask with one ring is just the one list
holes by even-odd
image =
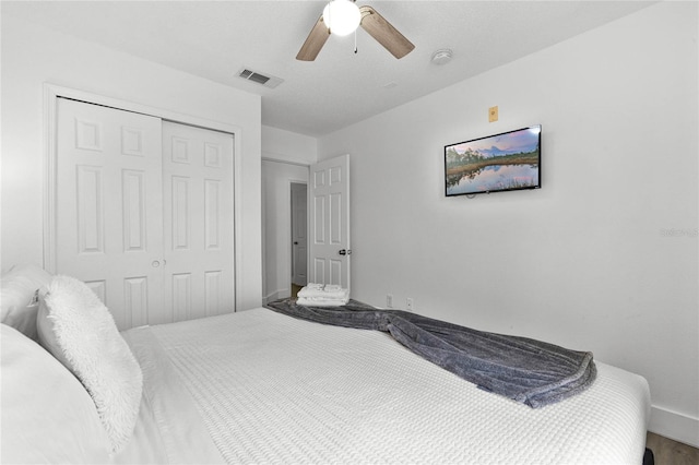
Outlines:
{"label": "white pillow at left edge, behind the shaggy pillow", "polygon": [[0,278],[1,322],[37,341],[36,291],[48,286],[51,275],[36,265],[15,265]]}

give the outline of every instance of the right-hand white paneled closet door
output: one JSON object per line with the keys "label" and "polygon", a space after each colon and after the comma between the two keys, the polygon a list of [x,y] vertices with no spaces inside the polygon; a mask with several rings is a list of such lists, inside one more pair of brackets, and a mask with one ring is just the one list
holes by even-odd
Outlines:
{"label": "right-hand white paneled closet door", "polygon": [[233,135],[163,121],[165,306],[174,321],[232,312]]}

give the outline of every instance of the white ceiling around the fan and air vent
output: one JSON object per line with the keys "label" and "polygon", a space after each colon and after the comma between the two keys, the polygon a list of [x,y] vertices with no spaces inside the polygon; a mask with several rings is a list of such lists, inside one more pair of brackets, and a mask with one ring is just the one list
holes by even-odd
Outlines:
{"label": "white ceiling around the fan and air vent", "polygon": [[[262,96],[262,123],[319,136],[638,11],[637,1],[376,1],[415,50],[393,58],[362,28],[295,59],[323,1],[2,1],[20,16]],[[453,50],[445,65],[430,62]],[[281,78],[244,81],[248,68]]]}

